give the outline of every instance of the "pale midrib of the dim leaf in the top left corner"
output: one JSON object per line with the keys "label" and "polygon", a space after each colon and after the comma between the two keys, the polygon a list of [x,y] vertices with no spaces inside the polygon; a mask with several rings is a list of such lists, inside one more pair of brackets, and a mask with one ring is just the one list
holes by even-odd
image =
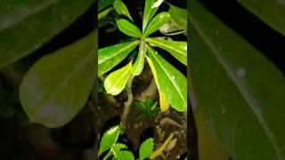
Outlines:
{"label": "pale midrib of the dim leaf in the top left corner", "polygon": [[53,6],[53,4],[56,4],[55,1],[57,1],[57,0],[51,0],[51,1],[48,1],[46,4],[41,4],[41,5],[37,6],[36,8],[34,8],[34,10],[32,10],[32,12],[28,12],[25,16],[20,17],[20,19],[13,20],[12,23],[4,26],[3,28],[0,28],[0,32],[4,31],[7,28],[11,28],[12,26],[17,25],[18,23],[20,23],[23,20],[27,20],[29,17],[37,14],[38,12],[42,12],[42,11],[45,11],[45,10],[51,8]]}

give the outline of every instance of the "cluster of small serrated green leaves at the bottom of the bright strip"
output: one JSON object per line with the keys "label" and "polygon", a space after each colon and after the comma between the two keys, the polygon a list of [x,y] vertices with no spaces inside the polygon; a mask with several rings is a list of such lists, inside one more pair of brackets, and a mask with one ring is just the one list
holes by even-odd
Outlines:
{"label": "cluster of small serrated green leaves at the bottom of the bright strip", "polygon": [[[98,157],[108,151],[107,154],[103,156],[103,160],[108,159],[110,156],[113,156],[113,159],[116,160],[134,160],[134,154],[128,150],[127,146],[117,142],[121,132],[122,129],[118,125],[104,132],[102,140],[100,141]],[[139,159],[150,158],[153,146],[154,144],[151,138],[144,140],[139,149]]]}

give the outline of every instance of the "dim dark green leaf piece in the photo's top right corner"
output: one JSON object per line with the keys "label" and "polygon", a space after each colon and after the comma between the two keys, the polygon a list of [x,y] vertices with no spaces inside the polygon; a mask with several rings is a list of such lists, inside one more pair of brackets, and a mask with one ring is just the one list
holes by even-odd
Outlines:
{"label": "dim dark green leaf piece in the photo's top right corner", "polygon": [[271,28],[285,36],[285,2],[283,0],[239,0],[238,2]]}

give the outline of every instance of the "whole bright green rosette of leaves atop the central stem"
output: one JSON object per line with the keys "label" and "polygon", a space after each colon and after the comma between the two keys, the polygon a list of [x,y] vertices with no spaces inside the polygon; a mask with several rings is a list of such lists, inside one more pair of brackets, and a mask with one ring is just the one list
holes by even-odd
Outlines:
{"label": "whole bright green rosette of leaves atop the central stem", "polygon": [[[113,6],[118,14],[125,18],[117,20],[119,30],[132,37],[130,42],[114,44],[102,48],[98,53],[98,76],[108,73],[104,80],[106,92],[118,95],[126,88],[129,78],[139,76],[142,73],[144,63],[147,60],[159,89],[160,108],[166,111],[169,104],[178,111],[186,111],[187,81],[186,77],[165,60],[153,47],[159,47],[169,52],[175,59],[187,66],[187,43],[171,41],[159,37],[151,37],[151,34],[159,30],[171,20],[168,12],[156,14],[163,0],[146,0],[142,18],[142,30],[134,25],[132,16],[127,10],[126,4],[115,0]],[[135,60],[130,60],[124,67],[111,73],[122,60],[125,60],[130,52],[139,45],[139,52]]]}

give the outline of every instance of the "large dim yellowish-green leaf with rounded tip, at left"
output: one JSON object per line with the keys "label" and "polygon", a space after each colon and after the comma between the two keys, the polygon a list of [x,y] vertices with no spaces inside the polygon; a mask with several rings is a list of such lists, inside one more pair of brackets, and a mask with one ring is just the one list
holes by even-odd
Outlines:
{"label": "large dim yellowish-green leaf with rounded tip, at left", "polygon": [[77,115],[95,78],[95,32],[37,60],[20,84],[20,101],[31,122],[60,127]]}

